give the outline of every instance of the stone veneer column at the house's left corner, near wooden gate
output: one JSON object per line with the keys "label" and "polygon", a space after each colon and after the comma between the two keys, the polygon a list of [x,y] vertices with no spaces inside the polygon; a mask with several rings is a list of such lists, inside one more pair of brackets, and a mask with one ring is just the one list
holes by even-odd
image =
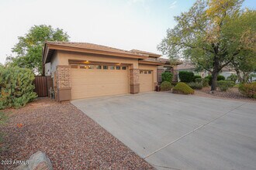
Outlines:
{"label": "stone veneer column at the house's left corner, near wooden gate", "polygon": [[71,66],[58,65],[56,68],[57,100],[71,100]]}

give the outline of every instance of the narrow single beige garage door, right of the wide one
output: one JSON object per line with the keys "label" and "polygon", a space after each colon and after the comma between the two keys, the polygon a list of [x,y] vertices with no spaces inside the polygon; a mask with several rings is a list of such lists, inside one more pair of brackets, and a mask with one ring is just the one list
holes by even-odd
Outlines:
{"label": "narrow single beige garage door, right of the wide one", "polygon": [[147,92],[153,90],[153,71],[140,70],[140,92]]}

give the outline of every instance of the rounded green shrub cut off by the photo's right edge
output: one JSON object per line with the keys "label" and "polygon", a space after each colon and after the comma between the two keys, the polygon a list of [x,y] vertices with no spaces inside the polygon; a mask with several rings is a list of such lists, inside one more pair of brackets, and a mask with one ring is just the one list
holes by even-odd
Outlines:
{"label": "rounded green shrub cut off by the photo's right edge", "polygon": [[256,82],[254,83],[241,83],[238,87],[240,93],[244,96],[256,99]]}

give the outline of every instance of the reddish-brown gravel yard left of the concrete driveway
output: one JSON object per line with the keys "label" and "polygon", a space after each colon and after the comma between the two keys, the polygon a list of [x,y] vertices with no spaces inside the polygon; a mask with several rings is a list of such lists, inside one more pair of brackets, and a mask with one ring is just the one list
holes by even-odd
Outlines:
{"label": "reddish-brown gravel yard left of the concrete driveway", "polygon": [[154,169],[70,103],[37,99],[5,111],[12,114],[0,128],[5,134],[1,161],[25,161],[43,151],[54,169]]}

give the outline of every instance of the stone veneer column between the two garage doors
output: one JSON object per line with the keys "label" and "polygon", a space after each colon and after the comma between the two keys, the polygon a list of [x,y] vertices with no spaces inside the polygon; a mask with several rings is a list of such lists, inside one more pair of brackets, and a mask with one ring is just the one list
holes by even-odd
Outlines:
{"label": "stone veneer column between the two garage doors", "polygon": [[140,93],[140,70],[130,69],[130,93]]}

